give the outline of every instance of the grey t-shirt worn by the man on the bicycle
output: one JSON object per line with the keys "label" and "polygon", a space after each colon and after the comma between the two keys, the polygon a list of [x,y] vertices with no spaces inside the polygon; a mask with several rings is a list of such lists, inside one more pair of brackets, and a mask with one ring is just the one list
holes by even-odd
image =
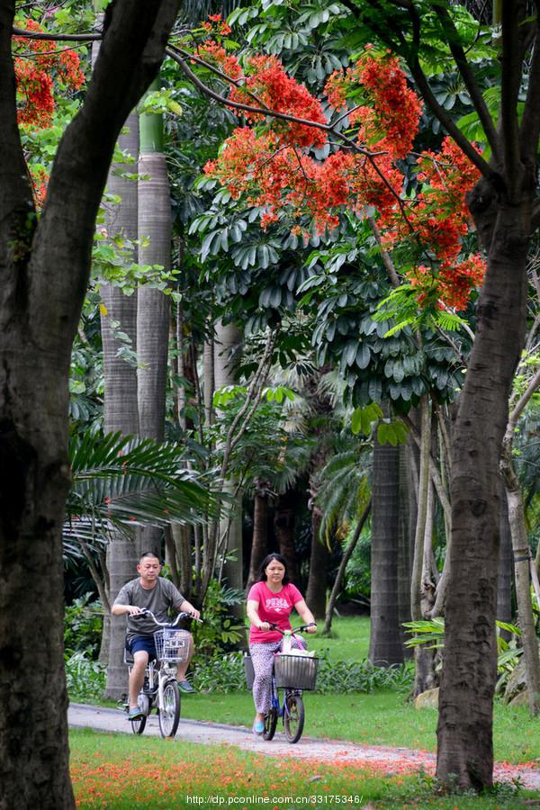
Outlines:
{"label": "grey t-shirt worn by the man on the bicycle", "polygon": [[[140,578],[126,582],[120,593],[114,599],[115,605],[136,605],[138,608],[151,610],[158,622],[168,622],[170,620],[169,611],[172,608],[178,610],[184,601],[184,597],[170,580],[164,577],[157,577],[155,588],[143,588]],[[128,617],[128,642],[135,635],[153,635],[157,627],[151,617],[141,616],[135,618]]]}

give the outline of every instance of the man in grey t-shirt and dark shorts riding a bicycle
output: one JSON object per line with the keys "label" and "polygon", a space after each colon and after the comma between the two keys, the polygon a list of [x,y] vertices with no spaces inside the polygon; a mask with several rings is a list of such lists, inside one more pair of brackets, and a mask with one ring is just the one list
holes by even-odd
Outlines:
{"label": "man in grey t-shirt and dark shorts riding a bicycle", "polygon": [[[129,720],[137,720],[141,716],[137,705],[139,691],[144,682],[144,673],[148,661],[156,658],[154,645],[154,631],[156,624],[151,618],[140,616],[144,610],[151,610],[159,622],[169,619],[169,611],[189,613],[193,618],[199,618],[200,613],[193,605],[184,599],[175,585],[165,577],[160,577],[161,563],[152,552],[145,552],[139,559],[137,566],[139,576],[126,582],[120,593],[114,599],[111,612],[113,616],[128,616],[128,629],[126,646],[133,656],[133,666],[130,672]],[[139,617],[139,618],[134,618]],[[194,692],[192,685],[185,678],[185,672],[193,656],[193,638],[190,639],[189,655],[186,662],[178,667],[178,686],[184,692]]]}

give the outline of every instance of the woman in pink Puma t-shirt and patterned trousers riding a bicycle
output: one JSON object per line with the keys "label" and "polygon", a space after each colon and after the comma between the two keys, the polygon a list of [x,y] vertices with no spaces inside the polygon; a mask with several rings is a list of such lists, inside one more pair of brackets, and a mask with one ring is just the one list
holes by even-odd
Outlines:
{"label": "woman in pink Puma t-shirt and patterned trousers riding a bicycle", "polygon": [[[253,683],[253,701],[256,716],[253,721],[255,734],[263,734],[265,715],[270,710],[272,687],[272,665],[274,653],[282,646],[283,636],[271,625],[281,630],[290,630],[289,617],[295,608],[302,618],[308,633],[315,633],[317,625],[310,608],[302,594],[287,577],[287,563],[281,554],[268,554],[261,563],[260,574],[256,584],[247,595],[247,618],[251,622],[249,630],[249,653],[255,680]],[[304,649],[302,638],[293,636],[292,646]]]}

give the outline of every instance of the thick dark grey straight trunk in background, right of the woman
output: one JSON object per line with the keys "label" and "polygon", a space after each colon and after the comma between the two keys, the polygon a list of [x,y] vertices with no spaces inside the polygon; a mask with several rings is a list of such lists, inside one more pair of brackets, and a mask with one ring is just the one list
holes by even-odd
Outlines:
{"label": "thick dark grey straight trunk in background, right of the woman", "polygon": [[387,667],[403,662],[398,599],[400,451],[374,441],[369,660]]}

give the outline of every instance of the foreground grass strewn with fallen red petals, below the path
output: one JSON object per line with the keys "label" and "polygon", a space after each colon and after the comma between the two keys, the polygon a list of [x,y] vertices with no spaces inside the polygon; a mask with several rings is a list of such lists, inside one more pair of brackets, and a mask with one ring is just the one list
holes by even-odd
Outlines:
{"label": "foreground grass strewn with fallen red petals, below the path", "polygon": [[333,804],[372,810],[516,810],[524,806],[523,800],[540,797],[540,793],[516,792],[509,786],[480,798],[438,797],[432,779],[404,775],[399,765],[392,776],[381,776],[350,763],[278,760],[229,746],[170,743],[155,737],[72,730],[70,744],[72,779],[81,808],[232,806],[250,810],[266,806],[292,810]]}

